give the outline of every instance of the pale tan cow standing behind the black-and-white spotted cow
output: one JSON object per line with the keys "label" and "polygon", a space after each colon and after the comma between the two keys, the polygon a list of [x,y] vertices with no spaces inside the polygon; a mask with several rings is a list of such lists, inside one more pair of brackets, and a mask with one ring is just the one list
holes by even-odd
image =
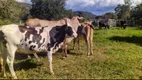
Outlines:
{"label": "pale tan cow standing behind the black-and-white spotted cow", "polygon": [[[30,27],[36,27],[36,26],[53,26],[53,25],[63,25],[65,24],[65,21],[67,21],[77,32],[78,28],[81,26],[79,20],[83,19],[83,17],[74,16],[71,19],[70,18],[64,18],[59,21],[48,21],[48,20],[41,20],[38,18],[35,19],[29,19],[25,22],[25,25]],[[73,37],[66,37],[63,41],[62,51],[63,51],[63,59],[67,57],[67,44],[70,43],[74,38]],[[38,56],[34,54],[36,58]]]}

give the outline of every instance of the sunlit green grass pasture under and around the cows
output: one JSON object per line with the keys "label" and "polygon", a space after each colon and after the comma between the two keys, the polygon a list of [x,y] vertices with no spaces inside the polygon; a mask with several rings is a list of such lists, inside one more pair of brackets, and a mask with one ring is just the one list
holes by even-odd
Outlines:
{"label": "sunlit green grass pasture under and around the cows", "polygon": [[[142,78],[142,30],[137,28],[95,29],[94,54],[87,57],[85,42],[81,49],[72,50],[69,44],[67,59],[61,59],[61,51],[53,55],[53,70],[57,79],[141,79]],[[53,79],[49,74],[46,53],[38,53],[40,62],[26,51],[18,50],[14,68],[20,79]],[[7,78],[10,72],[6,67]],[[2,77],[1,77],[2,78]]]}

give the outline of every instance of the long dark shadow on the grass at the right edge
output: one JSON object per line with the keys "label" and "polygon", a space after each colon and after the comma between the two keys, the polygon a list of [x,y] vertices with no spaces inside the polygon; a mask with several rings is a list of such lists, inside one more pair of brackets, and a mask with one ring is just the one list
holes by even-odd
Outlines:
{"label": "long dark shadow on the grass at the right edge", "polygon": [[120,42],[134,43],[136,45],[142,46],[142,36],[132,36],[132,37],[113,36],[109,39],[114,41],[120,41]]}

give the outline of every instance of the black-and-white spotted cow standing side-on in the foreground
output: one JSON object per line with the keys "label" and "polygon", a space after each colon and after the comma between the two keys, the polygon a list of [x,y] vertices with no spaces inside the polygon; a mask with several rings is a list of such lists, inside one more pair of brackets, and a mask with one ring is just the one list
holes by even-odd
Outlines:
{"label": "black-and-white spotted cow standing side-on in the foreground", "polygon": [[76,31],[66,22],[65,25],[44,27],[20,27],[17,24],[4,25],[0,28],[0,51],[1,71],[5,75],[5,64],[7,62],[11,75],[17,79],[13,69],[13,62],[17,48],[21,47],[35,52],[45,50],[47,52],[50,73],[52,69],[52,54],[58,50],[66,37],[77,37]]}

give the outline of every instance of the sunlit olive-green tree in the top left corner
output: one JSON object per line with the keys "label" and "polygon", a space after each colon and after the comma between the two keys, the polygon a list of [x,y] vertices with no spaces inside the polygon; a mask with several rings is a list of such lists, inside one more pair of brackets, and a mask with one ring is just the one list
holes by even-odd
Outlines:
{"label": "sunlit olive-green tree in the top left corner", "polygon": [[0,18],[18,21],[21,17],[23,7],[15,0],[0,0]]}

